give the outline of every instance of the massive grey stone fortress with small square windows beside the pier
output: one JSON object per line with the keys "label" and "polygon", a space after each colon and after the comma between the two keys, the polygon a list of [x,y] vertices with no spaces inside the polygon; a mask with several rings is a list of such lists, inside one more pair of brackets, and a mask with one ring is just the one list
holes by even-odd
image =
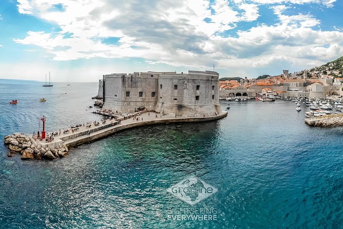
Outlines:
{"label": "massive grey stone fortress with small square windows beside the pier", "polygon": [[103,75],[98,96],[105,110],[147,109],[176,117],[209,117],[221,112],[215,71],[134,72]]}

